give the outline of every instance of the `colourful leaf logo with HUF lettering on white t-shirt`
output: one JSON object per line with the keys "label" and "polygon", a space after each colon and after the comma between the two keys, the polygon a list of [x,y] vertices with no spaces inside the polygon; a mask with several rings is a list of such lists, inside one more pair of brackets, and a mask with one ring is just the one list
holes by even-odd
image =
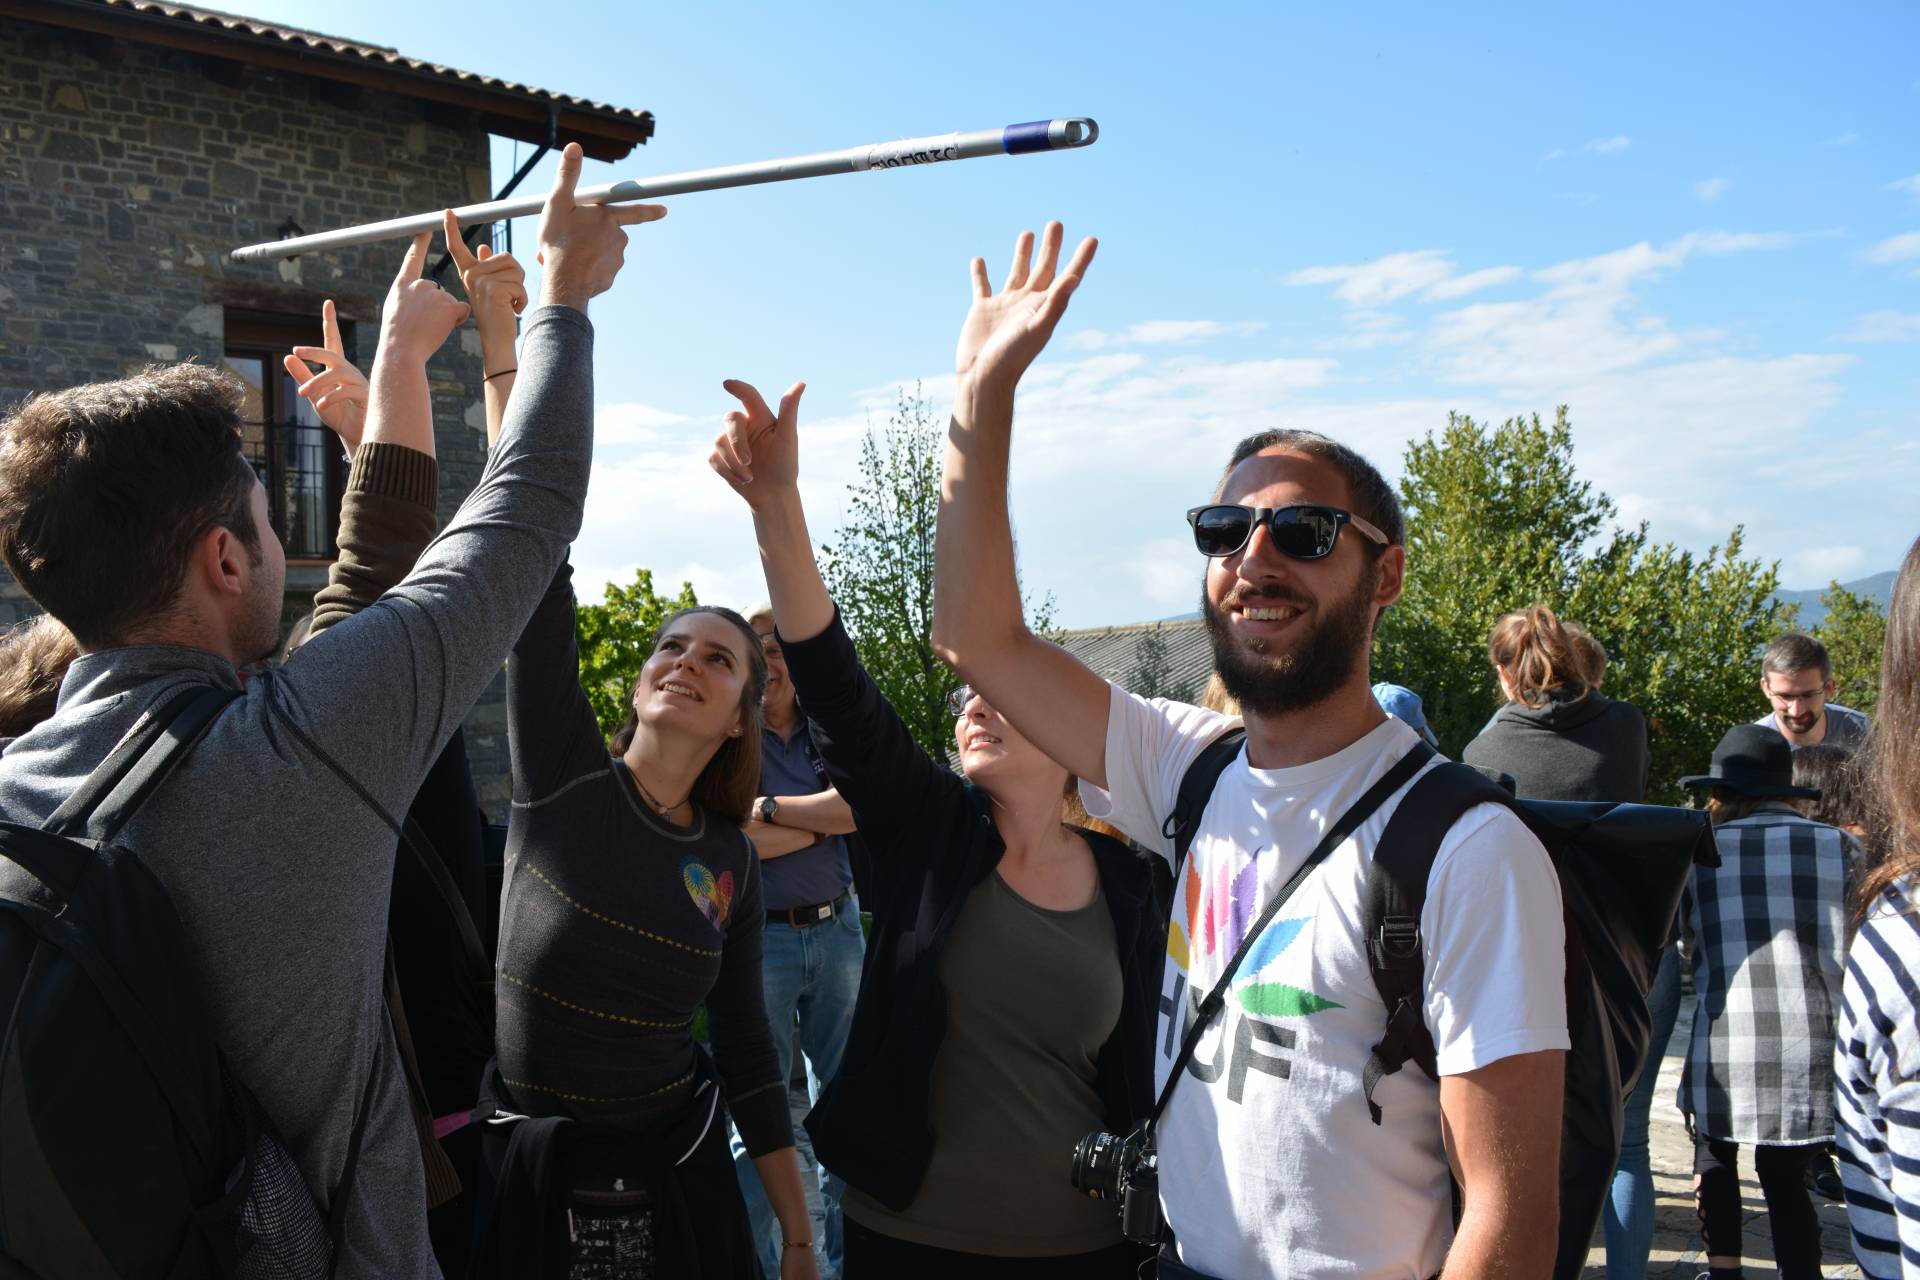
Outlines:
{"label": "colourful leaf logo with HUF lettering on white t-shirt", "polygon": [[[1217,981],[1217,973],[1233,960],[1260,915],[1256,904],[1260,852],[1256,850],[1236,871],[1231,869],[1231,858],[1215,860],[1215,867],[1210,867],[1215,871],[1210,875],[1212,885],[1202,883],[1196,867],[1198,858],[1190,858],[1187,864],[1187,883],[1183,885],[1187,919],[1175,919],[1173,927],[1167,929],[1167,958],[1173,961],[1167,969],[1171,990],[1160,998],[1160,1013],[1165,1017],[1162,1055],[1167,1059],[1173,1057],[1181,1038],[1192,1027],[1204,994],[1188,986],[1188,969],[1200,967],[1202,973],[1212,969],[1213,981]],[[1202,1084],[1212,1084],[1225,1071],[1229,1102],[1240,1102],[1250,1071],[1281,1080],[1292,1073],[1286,1052],[1294,1048],[1296,1034],[1269,1019],[1309,1017],[1321,1009],[1340,1007],[1334,1000],[1277,977],[1277,971],[1288,967],[1298,956],[1298,952],[1294,956],[1288,952],[1308,933],[1309,923],[1309,917],[1304,915],[1267,923],[1233,977],[1225,1011],[1229,1025],[1221,1029],[1223,1034],[1210,1031],[1212,1055],[1202,1048],[1187,1063],[1187,1071]],[[1212,960],[1212,963],[1200,963],[1202,958]],[[1225,1061],[1221,1061],[1223,1055]]]}

